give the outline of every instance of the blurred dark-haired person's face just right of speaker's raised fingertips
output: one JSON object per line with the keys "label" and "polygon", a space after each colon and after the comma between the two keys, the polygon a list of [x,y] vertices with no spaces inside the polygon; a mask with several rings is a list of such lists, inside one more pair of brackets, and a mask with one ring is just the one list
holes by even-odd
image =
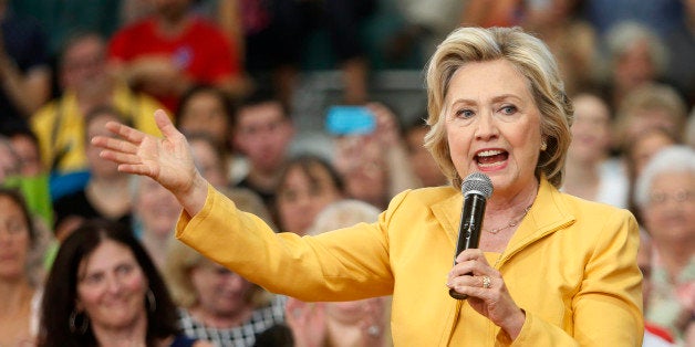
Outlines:
{"label": "blurred dark-haired person's face just right of speaker's raised fingertips", "polygon": [[204,90],[188,98],[181,105],[178,127],[183,133],[206,133],[218,144],[227,145],[229,136],[229,115],[220,95]]}

